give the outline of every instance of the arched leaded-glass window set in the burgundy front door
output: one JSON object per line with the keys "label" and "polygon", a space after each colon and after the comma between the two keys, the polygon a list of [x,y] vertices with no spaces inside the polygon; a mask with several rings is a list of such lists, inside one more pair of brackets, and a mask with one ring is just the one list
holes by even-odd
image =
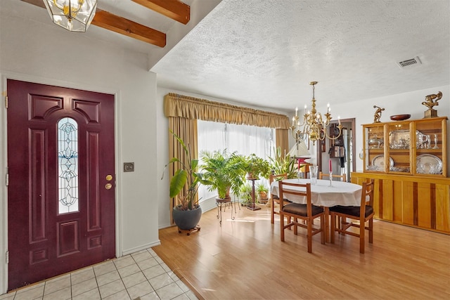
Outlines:
{"label": "arched leaded-glass window set in the burgundy front door", "polygon": [[58,122],[58,214],[78,211],[78,124],[65,117]]}

